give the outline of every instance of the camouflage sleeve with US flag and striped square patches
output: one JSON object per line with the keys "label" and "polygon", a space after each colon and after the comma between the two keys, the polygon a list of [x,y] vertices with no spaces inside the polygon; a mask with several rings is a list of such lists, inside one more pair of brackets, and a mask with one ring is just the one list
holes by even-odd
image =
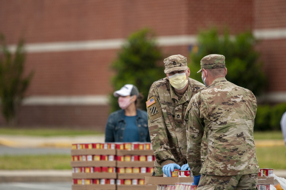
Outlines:
{"label": "camouflage sleeve with US flag and striped square patches", "polygon": [[[155,103],[148,105],[148,101],[152,98],[154,98]],[[155,166],[162,167],[169,163],[176,163],[175,158],[170,150],[166,124],[159,102],[160,99],[158,90],[156,89],[155,84],[152,84],[149,90],[148,101],[146,103],[146,106],[148,113],[148,128],[150,140],[154,151],[155,159],[159,164],[155,164]]]}

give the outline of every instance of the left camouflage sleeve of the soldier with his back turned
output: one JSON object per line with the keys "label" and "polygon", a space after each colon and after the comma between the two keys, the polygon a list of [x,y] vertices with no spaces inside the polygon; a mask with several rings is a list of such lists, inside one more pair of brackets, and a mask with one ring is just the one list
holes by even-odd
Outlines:
{"label": "left camouflage sleeve of the soldier with his back turned", "polygon": [[193,175],[199,175],[202,167],[201,160],[201,143],[202,136],[204,134],[203,120],[200,118],[199,106],[203,104],[203,101],[197,100],[198,96],[194,96],[190,101],[190,109],[187,115],[187,160],[190,170]]}

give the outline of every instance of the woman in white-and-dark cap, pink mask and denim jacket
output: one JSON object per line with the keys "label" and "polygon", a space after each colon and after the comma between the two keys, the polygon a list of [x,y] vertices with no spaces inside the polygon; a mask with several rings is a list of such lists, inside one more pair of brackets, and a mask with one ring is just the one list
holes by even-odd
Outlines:
{"label": "woman in white-and-dark cap, pink mask and denim jacket", "polygon": [[113,95],[118,97],[121,110],[109,115],[105,142],[150,142],[147,112],[136,107],[138,99],[143,98],[137,87],[126,84]]}

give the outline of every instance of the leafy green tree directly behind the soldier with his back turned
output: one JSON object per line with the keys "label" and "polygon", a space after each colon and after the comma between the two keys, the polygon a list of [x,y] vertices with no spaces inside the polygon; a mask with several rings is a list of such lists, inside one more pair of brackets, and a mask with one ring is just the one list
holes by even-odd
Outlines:
{"label": "leafy green tree directly behind the soldier with his back turned", "polygon": [[200,60],[209,54],[221,54],[225,56],[226,79],[251,90],[255,95],[261,94],[266,80],[259,54],[254,49],[255,42],[251,32],[235,35],[234,39],[227,31],[223,37],[219,37],[217,29],[200,32],[198,46],[190,54],[190,77],[201,81],[201,75],[196,73],[200,69]]}

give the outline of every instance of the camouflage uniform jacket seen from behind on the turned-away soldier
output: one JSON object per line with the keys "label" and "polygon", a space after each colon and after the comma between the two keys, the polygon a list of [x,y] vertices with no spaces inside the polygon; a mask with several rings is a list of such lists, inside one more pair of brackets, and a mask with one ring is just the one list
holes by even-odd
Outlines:
{"label": "camouflage uniform jacket seen from behind on the turned-away soldier", "polygon": [[[259,172],[253,140],[256,109],[254,94],[225,78],[215,79],[192,97],[186,113],[186,128],[187,159],[193,175]],[[199,155],[204,132],[208,154],[202,164]]]}

